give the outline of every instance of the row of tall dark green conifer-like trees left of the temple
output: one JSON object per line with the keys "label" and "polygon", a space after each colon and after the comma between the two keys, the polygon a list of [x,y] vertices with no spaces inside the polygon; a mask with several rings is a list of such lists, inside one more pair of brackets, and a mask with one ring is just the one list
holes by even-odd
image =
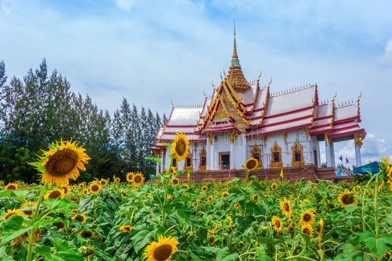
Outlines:
{"label": "row of tall dark green conifer-like trees left of the temple", "polygon": [[124,178],[130,171],[148,177],[155,164],[146,160],[155,134],[167,121],[157,112],[140,110],[123,97],[111,115],[98,109],[91,98],[70,90],[66,77],[54,70],[48,75],[45,58],[23,80],[7,81],[0,62],[0,180],[35,182],[39,176],[27,162],[35,161],[53,141],[75,140],[92,158],[78,181]]}

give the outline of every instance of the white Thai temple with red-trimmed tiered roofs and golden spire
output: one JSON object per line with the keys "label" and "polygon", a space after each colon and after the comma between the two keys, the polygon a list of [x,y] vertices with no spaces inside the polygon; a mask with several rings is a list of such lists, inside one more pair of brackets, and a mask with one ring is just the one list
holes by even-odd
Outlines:
{"label": "white Thai temple with red-trimmed tiered roofs and golden spire", "polygon": [[[317,84],[287,90],[272,90],[257,80],[247,81],[237,54],[235,28],[234,49],[227,74],[223,71],[219,87],[204,93],[201,106],[174,106],[170,118],[156,135],[150,148],[156,157],[156,172],[169,167],[166,147],[176,133],[190,140],[189,155],[181,162],[173,161],[180,171],[188,170],[190,180],[244,177],[244,163],[254,157],[259,179],[284,178],[336,179],[334,142],[354,139],[356,165],[361,166],[362,140],[366,131],[361,122],[359,99],[337,104],[335,96],[321,102]],[[324,141],[324,142],[319,142]],[[321,166],[320,146],[325,145],[326,166]],[[180,175],[180,180],[187,175]]]}

